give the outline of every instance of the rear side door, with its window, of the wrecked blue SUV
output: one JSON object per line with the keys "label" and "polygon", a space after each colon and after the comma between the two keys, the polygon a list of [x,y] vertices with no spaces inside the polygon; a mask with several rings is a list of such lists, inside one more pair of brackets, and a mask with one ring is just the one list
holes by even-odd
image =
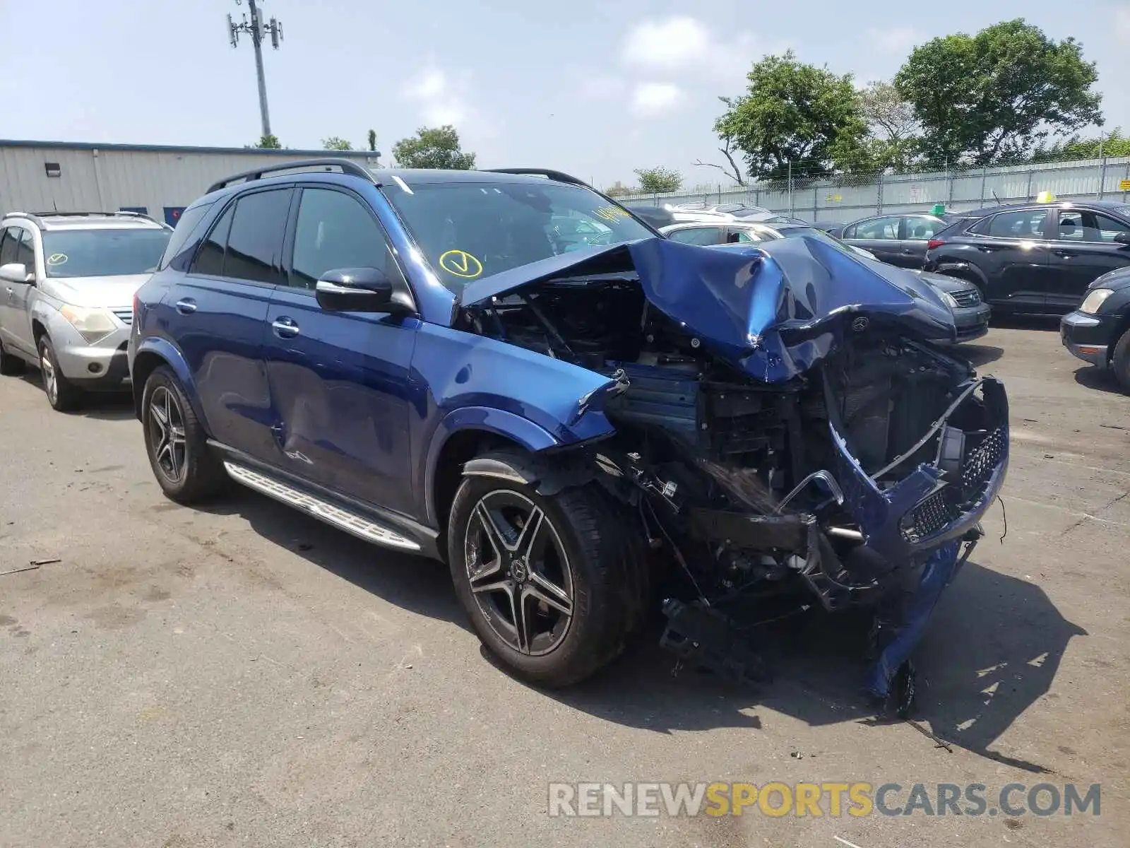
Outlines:
{"label": "rear side door, with its window, of the wrecked blue SUV", "polygon": [[240,194],[217,217],[189,272],[162,303],[192,371],[214,439],[281,464],[263,358],[267,311],[282,280],[292,188]]}

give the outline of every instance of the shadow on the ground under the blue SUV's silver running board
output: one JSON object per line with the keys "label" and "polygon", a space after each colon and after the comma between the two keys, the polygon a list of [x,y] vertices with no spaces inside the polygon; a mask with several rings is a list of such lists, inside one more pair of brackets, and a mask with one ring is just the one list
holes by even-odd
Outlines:
{"label": "shadow on the ground under the blue SUV's silver running board", "polygon": [[[390,604],[454,622],[470,631],[447,566],[442,562],[379,547],[242,487],[220,500],[194,505],[194,509],[218,516],[240,516],[264,539],[293,551],[312,565]],[[475,637],[468,632],[467,638]]]}

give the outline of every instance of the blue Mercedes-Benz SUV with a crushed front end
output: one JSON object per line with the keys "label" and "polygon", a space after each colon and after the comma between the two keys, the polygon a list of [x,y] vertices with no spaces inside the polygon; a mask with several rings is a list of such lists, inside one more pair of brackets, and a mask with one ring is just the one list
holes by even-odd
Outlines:
{"label": "blue Mercedes-Benz SUV with a crushed front end", "polygon": [[554,171],[287,163],[214,185],[137,294],[154,474],[235,481],[446,560],[545,685],[664,646],[749,676],[736,620],[799,588],[875,609],[887,698],[980,536],[1002,386],[914,275],[822,241],[668,241]]}

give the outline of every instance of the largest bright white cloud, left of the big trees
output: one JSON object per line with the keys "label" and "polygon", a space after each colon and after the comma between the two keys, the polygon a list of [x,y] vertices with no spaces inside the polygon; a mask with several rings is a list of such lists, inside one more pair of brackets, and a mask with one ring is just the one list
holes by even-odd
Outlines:
{"label": "largest bright white cloud, left of the big trees", "polygon": [[757,40],[746,32],[719,37],[696,18],[680,15],[644,20],[624,42],[623,60],[629,68],[659,75],[694,75],[740,83],[763,53]]}

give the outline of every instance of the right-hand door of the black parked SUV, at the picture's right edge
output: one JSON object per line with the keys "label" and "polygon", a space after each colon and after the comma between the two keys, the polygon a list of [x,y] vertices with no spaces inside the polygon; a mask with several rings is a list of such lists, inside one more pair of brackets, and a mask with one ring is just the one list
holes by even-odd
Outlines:
{"label": "right-hand door of the black parked SUV, at the picture's right edge", "polygon": [[1130,265],[1130,246],[1114,241],[1130,226],[1099,211],[1058,209],[1051,245],[1048,306],[1064,313],[1083,301],[1087,286],[1106,271]]}

